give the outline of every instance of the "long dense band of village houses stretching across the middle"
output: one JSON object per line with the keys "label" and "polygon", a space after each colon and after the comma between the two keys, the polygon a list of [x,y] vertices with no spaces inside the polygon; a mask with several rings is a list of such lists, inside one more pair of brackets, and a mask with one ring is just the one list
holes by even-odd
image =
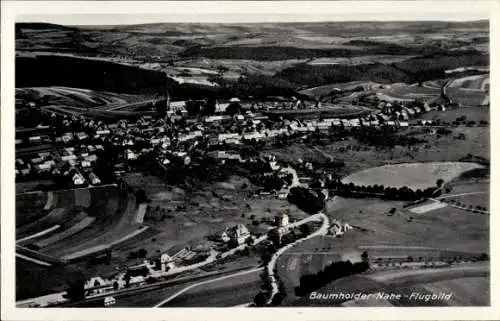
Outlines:
{"label": "long dense band of village houses stretching across the middle", "polygon": [[[295,104],[302,104],[294,101]],[[326,118],[318,120],[288,120],[271,121],[267,116],[255,115],[250,111],[244,115],[213,115],[198,119],[185,118],[185,108],[169,110],[167,117],[153,118],[145,115],[135,121],[120,120],[106,124],[102,121],[84,117],[66,117],[62,121],[64,134],[55,137],[56,144],[78,146],[78,152],[67,147],[61,153],[40,153],[29,160],[16,161],[16,175],[51,173],[63,175],[75,185],[85,183],[99,184],[100,178],[92,171],[97,160],[95,151],[103,146],[119,147],[119,158],[123,162],[115,164],[115,173],[124,172],[127,161],[137,160],[141,154],[154,152],[159,165],[168,167],[178,162],[189,165],[192,161],[191,151],[200,143],[208,148],[208,156],[219,160],[245,162],[245,159],[235,152],[227,151],[228,146],[237,146],[254,142],[269,142],[278,137],[313,132],[328,133],[333,129],[356,128],[363,126],[393,126],[405,128],[409,126],[410,117],[430,111],[427,104],[423,107],[398,106],[391,103],[381,103],[380,111],[361,118],[340,119]],[[182,121],[180,121],[182,120]],[[77,124],[77,126],[75,126]],[[427,123],[426,123],[427,124]],[[71,128],[78,128],[73,132]],[[29,137],[28,141],[41,143],[47,137]],[[18,141],[16,141],[18,143]],[[61,170],[69,164],[70,170]]]}

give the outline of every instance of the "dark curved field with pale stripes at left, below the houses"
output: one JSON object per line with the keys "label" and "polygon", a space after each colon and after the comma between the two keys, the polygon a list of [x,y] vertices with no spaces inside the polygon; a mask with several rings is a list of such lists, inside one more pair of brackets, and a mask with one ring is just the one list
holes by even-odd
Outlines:
{"label": "dark curved field with pale stripes at left, below the houses", "polygon": [[[117,188],[48,193],[45,207],[41,195],[33,194],[38,198],[29,195],[34,198],[32,203],[38,204],[39,212],[36,220],[19,223],[18,244],[32,244],[54,257],[81,258],[130,245],[156,233],[148,226],[135,223],[138,214],[135,198],[121,195]],[[18,199],[21,198],[28,196],[21,194]],[[18,208],[20,216],[23,209]]]}

